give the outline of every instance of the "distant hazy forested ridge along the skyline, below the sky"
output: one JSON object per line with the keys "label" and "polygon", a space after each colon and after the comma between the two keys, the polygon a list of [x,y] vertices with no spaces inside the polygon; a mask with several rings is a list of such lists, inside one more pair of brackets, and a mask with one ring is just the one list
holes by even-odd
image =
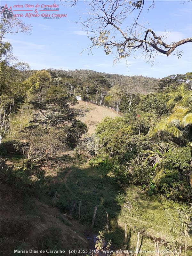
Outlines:
{"label": "distant hazy forested ridge along the skyline, below the sky", "polygon": [[[26,77],[31,76],[37,70],[28,70],[26,72]],[[54,69],[50,68],[47,69],[52,75],[52,78],[57,77],[73,77],[79,79],[80,82],[85,82],[87,80],[91,80],[95,77],[104,77],[108,79],[108,82],[111,86],[114,85],[127,85],[132,84],[136,87],[140,87],[140,93],[147,94],[150,92],[157,92],[158,89],[164,90],[164,88],[168,86],[172,86],[175,88],[179,84],[189,83],[191,81],[191,72],[186,74],[177,74],[177,75],[170,75],[164,77],[162,79],[154,78],[154,77],[147,77],[147,76],[124,76],[119,74],[109,74],[104,72],[98,72],[89,69],[76,69],[76,70],[61,70],[61,69]]]}

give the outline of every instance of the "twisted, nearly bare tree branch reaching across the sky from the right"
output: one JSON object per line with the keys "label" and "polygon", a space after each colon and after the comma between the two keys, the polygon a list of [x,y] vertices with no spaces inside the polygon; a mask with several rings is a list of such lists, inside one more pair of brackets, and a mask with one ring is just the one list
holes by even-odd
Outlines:
{"label": "twisted, nearly bare tree branch reaching across the sky from the right", "polygon": [[[68,6],[74,6],[77,3],[76,0],[61,1]],[[115,53],[115,60],[120,60],[131,54],[135,56],[135,53],[140,50],[141,54],[145,54],[145,58],[153,64],[154,55],[159,53],[169,56],[179,46],[192,42],[192,37],[188,37],[167,44],[165,36],[156,35],[153,29],[139,24],[141,12],[152,9],[155,1],[150,5],[145,0],[84,2],[88,7],[88,13],[85,20],[80,17],[80,21],[76,23],[83,25],[83,29],[86,29],[92,41],[92,46],[87,48],[90,52],[93,47],[104,47],[107,55]],[[145,6],[147,7],[144,8]],[[90,36],[91,34],[94,36]],[[181,51],[177,52],[178,58],[181,57],[181,53]]]}

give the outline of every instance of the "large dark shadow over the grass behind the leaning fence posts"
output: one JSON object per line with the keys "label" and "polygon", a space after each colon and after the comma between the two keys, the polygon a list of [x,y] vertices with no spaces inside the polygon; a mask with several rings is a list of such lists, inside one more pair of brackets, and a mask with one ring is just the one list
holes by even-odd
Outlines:
{"label": "large dark shadow over the grass behind the leaning fence posts", "polygon": [[46,198],[43,196],[41,200],[48,200],[47,203],[52,204],[57,191],[56,207],[78,220],[80,205],[80,221],[89,225],[92,224],[94,209],[97,206],[92,232],[106,232],[108,223],[106,239],[113,240],[116,246],[122,246],[124,230],[118,226],[117,220],[122,209],[120,195],[123,197],[125,191],[117,184],[116,178],[107,171],[88,166],[59,167],[55,172],[51,180],[47,177],[42,188]]}

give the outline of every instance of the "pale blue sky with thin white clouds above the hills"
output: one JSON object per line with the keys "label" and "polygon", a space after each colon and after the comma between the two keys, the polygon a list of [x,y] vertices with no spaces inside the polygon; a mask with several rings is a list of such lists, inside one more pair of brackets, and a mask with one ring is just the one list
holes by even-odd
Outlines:
{"label": "pale blue sky with thin white clouds above the hills", "polygon": [[[142,75],[162,78],[171,74],[184,74],[192,70],[192,44],[188,43],[179,47],[183,51],[180,59],[176,56],[156,56],[155,65],[146,63],[143,57],[138,54],[114,64],[114,56],[106,55],[103,49],[94,49],[93,55],[88,51],[81,52],[91,45],[87,38],[86,31],[83,31],[74,20],[79,19],[79,14],[86,13],[83,1],[79,1],[74,7],[61,5],[59,0],[9,0],[1,1],[12,6],[13,13],[19,8],[13,8],[17,4],[59,4],[59,12],[67,14],[61,19],[43,19],[42,17],[21,18],[24,23],[32,26],[30,34],[18,33],[9,35],[6,40],[12,43],[13,54],[20,61],[27,62],[31,69],[57,68],[57,69],[92,69],[99,72],[121,74],[127,76]],[[148,0],[149,4],[150,0]],[[180,0],[156,0],[154,9],[143,13],[143,23],[150,23],[152,28],[159,35],[169,31],[168,42],[178,41],[183,38],[192,37],[192,2],[181,4]],[[21,8],[26,9],[26,8]],[[29,8],[31,9],[31,8]],[[35,8],[32,8],[33,10]],[[34,12],[33,12],[34,13]],[[40,12],[41,13],[41,12]],[[49,12],[47,12],[49,13]]]}

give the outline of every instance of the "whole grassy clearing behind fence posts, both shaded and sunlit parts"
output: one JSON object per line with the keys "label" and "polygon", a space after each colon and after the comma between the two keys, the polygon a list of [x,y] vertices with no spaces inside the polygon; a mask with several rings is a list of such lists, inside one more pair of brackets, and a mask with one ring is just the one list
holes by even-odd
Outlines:
{"label": "whole grassy clearing behind fence posts, both shaded and sunlit parts", "polygon": [[[130,248],[134,249],[136,246],[138,230],[144,232],[142,248],[146,250],[154,250],[153,238],[171,240],[168,222],[164,216],[168,209],[176,218],[175,208],[178,204],[157,195],[148,196],[137,186],[123,189],[117,185],[111,173],[86,164],[60,167],[53,172],[54,182],[47,184],[45,188],[46,194],[50,195],[47,203],[52,204],[55,191],[57,191],[60,198],[57,199],[56,206],[62,212],[70,214],[74,200],[76,200],[74,217],[78,219],[79,201],[81,200],[81,221],[88,224],[91,224],[95,205],[98,205],[95,232],[106,231],[106,212],[108,212],[109,230],[105,232],[105,238],[111,239],[114,247],[123,248],[124,246],[125,224],[128,227],[126,245]],[[127,205],[130,209],[126,207]],[[129,231],[131,231],[131,237],[129,237]]]}

